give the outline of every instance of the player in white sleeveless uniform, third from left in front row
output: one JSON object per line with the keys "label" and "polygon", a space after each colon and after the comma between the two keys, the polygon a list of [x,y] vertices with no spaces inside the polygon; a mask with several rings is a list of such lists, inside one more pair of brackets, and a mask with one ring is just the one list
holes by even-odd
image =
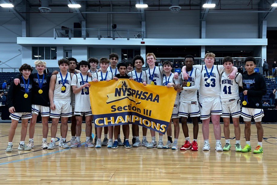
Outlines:
{"label": "player in white sleeveless uniform, third from left in front row", "polygon": [[60,59],[58,61],[60,72],[57,75],[52,75],[49,86],[50,99],[50,117],[52,118],[51,125],[51,143],[48,145],[48,150],[55,148],[55,137],[57,133],[57,125],[61,118],[61,132],[62,132],[62,148],[69,148],[66,143],[67,136],[67,122],[68,118],[72,116],[71,107],[71,78],[73,74],[67,72],[69,66],[68,59]]}

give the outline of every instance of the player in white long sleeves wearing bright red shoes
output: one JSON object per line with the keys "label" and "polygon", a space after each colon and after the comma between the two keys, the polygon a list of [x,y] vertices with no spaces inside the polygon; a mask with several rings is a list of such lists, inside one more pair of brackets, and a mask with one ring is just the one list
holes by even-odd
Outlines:
{"label": "player in white long sleeves wearing bright red shoes", "polygon": [[[187,74],[190,76],[187,81],[184,81],[183,74],[180,74],[181,83],[185,82],[181,88],[179,116],[181,116],[181,124],[185,136],[184,145],[180,150],[198,151],[198,117],[200,116],[199,104],[197,99],[197,91],[199,89],[201,73],[198,69],[193,68],[194,57],[187,55],[185,57],[185,65],[187,66]],[[175,88],[176,89],[176,88]],[[190,141],[190,136],[187,127],[187,118],[191,117],[193,123],[193,142]]]}

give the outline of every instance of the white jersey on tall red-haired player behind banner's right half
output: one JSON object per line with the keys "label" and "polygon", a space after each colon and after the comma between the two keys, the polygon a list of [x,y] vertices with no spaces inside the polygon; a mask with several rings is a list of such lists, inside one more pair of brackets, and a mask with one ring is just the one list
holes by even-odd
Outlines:
{"label": "white jersey on tall red-haired player behind banner's right half", "polygon": [[[155,71],[154,71],[155,69]],[[149,73],[150,70],[150,73]],[[146,81],[146,84],[151,84],[152,79],[155,85],[162,85],[162,74],[163,74],[163,67],[155,66],[153,69],[147,69],[144,71],[143,75],[143,81]],[[151,76],[153,77],[151,79]]]}

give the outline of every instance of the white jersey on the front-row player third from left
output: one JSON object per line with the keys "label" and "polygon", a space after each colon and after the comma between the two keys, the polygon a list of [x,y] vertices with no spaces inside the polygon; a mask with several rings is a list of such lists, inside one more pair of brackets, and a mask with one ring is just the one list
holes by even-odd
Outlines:
{"label": "white jersey on the front-row player third from left", "polygon": [[70,94],[71,94],[71,74],[67,72],[67,79],[65,80],[65,76],[63,76],[64,86],[66,89],[64,91],[61,90],[63,86],[62,79],[60,77],[60,73],[57,74],[56,77],[56,84],[54,88],[54,98],[53,100],[63,100],[63,101],[71,101]]}

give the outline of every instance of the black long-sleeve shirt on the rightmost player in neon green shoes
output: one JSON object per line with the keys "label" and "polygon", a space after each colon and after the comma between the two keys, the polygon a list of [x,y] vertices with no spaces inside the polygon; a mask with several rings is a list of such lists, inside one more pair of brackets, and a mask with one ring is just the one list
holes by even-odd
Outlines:
{"label": "black long-sleeve shirt on the rightmost player in neon green shoes", "polygon": [[[243,90],[247,90],[248,103],[242,107],[262,109],[262,96],[266,95],[265,78],[256,72],[243,75]],[[246,100],[244,95],[243,100]]]}

